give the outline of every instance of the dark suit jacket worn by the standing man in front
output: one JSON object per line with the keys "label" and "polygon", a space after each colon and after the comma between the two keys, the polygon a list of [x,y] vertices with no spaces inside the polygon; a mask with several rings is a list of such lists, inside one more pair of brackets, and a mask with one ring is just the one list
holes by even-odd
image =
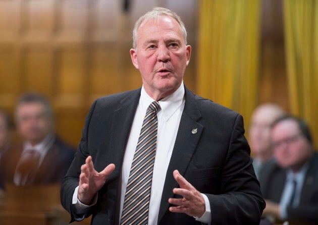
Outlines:
{"label": "dark suit jacket worn by the standing man in front", "polygon": [[[116,165],[98,192],[92,224],[115,224],[119,220],[120,177],[126,143],[140,97],[140,89],[97,99],[86,117],[83,136],[61,188],[63,206],[71,213],[72,195],[78,186],[80,167],[91,155],[96,171]],[[198,191],[206,194],[213,224],[259,224],[264,208],[258,181],[243,136],[242,117],[185,89],[185,107],[158,214],[158,224],[196,224],[191,216],[169,211],[168,199],[178,187],[178,170]],[[191,130],[197,128],[197,133]]]}

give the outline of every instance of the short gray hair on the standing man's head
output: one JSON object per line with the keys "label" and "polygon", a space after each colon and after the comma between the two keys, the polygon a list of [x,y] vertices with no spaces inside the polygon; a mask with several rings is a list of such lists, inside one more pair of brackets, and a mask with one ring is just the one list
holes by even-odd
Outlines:
{"label": "short gray hair on the standing man's head", "polygon": [[181,18],[173,11],[161,8],[161,7],[155,7],[151,11],[147,12],[145,15],[141,16],[137,22],[135,23],[135,27],[133,30],[133,48],[137,47],[137,31],[138,28],[143,25],[144,23],[150,21],[150,20],[158,20],[160,16],[169,16],[174,18],[178,24],[180,25],[181,32],[184,38],[185,44],[187,44],[187,31],[184,26],[184,23],[182,22]]}

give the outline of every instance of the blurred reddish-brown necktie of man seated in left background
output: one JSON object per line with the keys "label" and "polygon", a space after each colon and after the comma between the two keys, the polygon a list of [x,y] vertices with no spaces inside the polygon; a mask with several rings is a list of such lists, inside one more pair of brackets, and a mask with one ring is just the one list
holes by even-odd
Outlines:
{"label": "blurred reddish-brown necktie of man seated in left background", "polygon": [[34,149],[25,150],[17,165],[17,171],[20,173],[19,185],[31,185],[40,160],[40,152]]}

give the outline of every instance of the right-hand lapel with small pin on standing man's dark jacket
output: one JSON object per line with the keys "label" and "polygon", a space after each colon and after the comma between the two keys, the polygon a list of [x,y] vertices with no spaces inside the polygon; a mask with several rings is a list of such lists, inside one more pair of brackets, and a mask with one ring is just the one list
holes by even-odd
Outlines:
{"label": "right-hand lapel with small pin on standing man's dark jacket", "polygon": [[173,171],[178,170],[182,176],[184,175],[203,130],[203,126],[196,122],[201,117],[201,114],[195,101],[195,95],[186,87],[185,91],[185,106],[166,174],[166,180],[158,214],[158,223],[168,210],[168,199],[174,196],[172,190],[178,187],[178,183],[173,177]]}

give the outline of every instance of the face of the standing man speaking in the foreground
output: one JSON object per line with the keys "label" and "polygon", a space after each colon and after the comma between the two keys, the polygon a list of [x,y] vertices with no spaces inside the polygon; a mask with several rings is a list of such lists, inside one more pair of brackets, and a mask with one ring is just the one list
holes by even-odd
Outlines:
{"label": "face of the standing man speaking in the foreground", "polygon": [[141,73],[146,92],[155,100],[176,91],[190,60],[191,46],[178,22],[168,16],[150,20],[137,30],[137,46],[130,49],[132,62]]}

